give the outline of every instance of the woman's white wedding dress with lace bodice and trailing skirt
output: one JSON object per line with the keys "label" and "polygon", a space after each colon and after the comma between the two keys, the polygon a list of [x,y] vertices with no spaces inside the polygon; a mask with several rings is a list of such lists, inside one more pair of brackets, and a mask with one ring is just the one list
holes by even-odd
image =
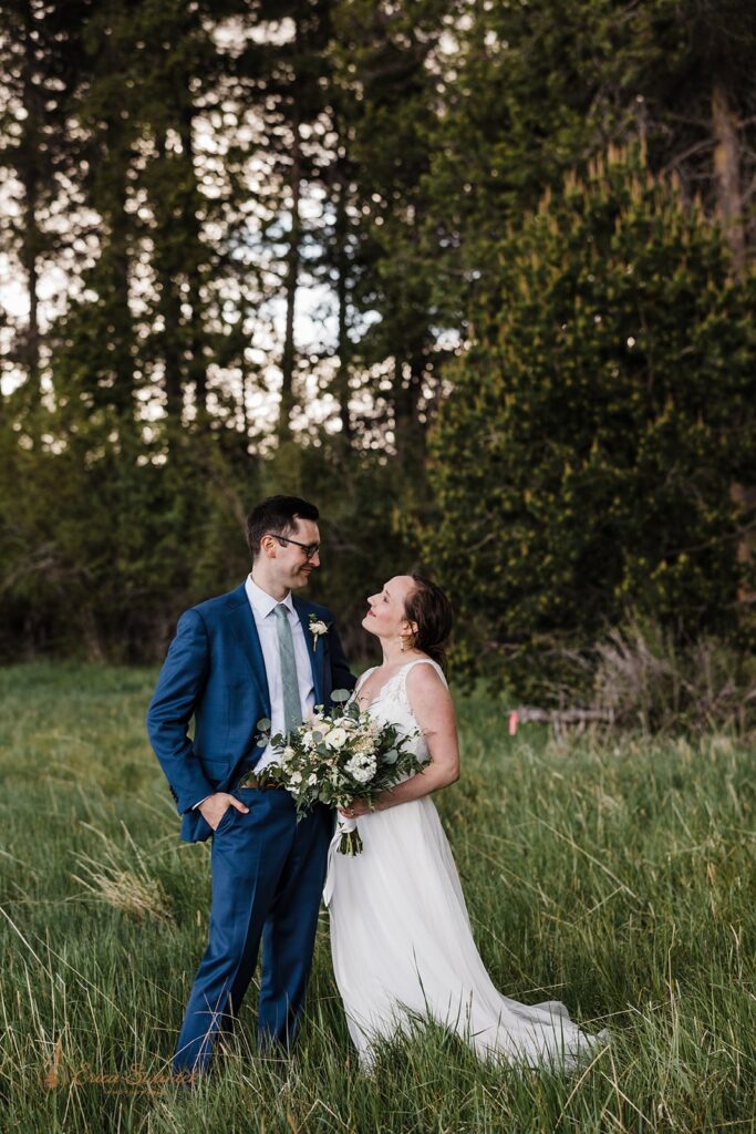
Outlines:
{"label": "woman's white wedding dress with lace bodice and trailing skirt", "polygon": [[[379,721],[419,727],[404,666],[369,705]],[[362,675],[352,697],[372,670]],[[428,759],[425,741],[413,746]],[[329,857],[325,897],[333,972],[363,1066],[374,1041],[432,1018],[472,1043],[482,1058],[569,1069],[608,1039],[588,1035],[558,1000],[524,1005],[493,985],[473,940],[455,860],[430,795],[359,819],[364,850]]]}

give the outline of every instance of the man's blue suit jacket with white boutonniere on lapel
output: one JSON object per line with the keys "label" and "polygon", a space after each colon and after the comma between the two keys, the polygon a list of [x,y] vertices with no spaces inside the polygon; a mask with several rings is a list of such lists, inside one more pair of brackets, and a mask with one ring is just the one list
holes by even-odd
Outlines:
{"label": "man's blue suit jacket with white boutonniere on lapel", "polygon": [[[350,672],[326,607],[292,595],[308,644],[315,704],[330,704],[333,689],[351,689]],[[329,625],[313,649],[309,616]],[[228,594],[185,610],[168,648],[147,709],[147,733],[165,773],[185,843],[209,838],[212,828],[192,807],[214,792],[228,792],[254,768],[257,721],[271,703],[255,618],[241,583]],[[188,734],[194,717],[194,737]]]}

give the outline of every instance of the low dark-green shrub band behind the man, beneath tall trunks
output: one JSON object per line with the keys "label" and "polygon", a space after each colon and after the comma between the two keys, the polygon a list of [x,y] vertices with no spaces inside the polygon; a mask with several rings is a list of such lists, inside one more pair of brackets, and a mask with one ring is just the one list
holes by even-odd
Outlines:
{"label": "low dark-green shrub band behind the man, beneath tall trunks", "polygon": [[246,513],[278,491],[317,501],[322,567],[307,593],[338,611],[349,655],[364,653],[366,595],[411,566],[390,503],[404,491],[394,465],[292,442],[252,462],[192,437],[177,439],[170,462],[139,466],[133,450],[129,459],[101,440],[88,429],[60,455],[1,452],[6,483],[24,485],[0,497],[0,572],[12,583],[6,657],[18,642],[28,657],[162,658],[182,609],[244,582]]}

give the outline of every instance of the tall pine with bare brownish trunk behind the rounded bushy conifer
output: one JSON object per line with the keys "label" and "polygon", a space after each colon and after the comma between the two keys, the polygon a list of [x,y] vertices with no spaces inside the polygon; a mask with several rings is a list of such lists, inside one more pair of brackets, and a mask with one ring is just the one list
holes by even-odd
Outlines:
{"label": "tall pine with bare brownish trunk behind the rounded bushy conifer", "polygon": [[[734,29],[737,28],[737,33]],[[756,9],[739,0],[543,0],[460,7],[428,176],[434,298],[465,330],[502,222],[609,144],[640,139],[747,252],[756,166]]]}

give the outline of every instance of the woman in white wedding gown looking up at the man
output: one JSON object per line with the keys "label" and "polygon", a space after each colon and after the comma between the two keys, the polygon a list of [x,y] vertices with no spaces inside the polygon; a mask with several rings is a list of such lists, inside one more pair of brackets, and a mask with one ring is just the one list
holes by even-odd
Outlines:
{"label": "woman in white wedding gown looking up at the man", "polygon": [[421,575],[397,575],[368,600],[363,626],[383,662],[352,696],[380,722],[417,731],[427,768],[379,797],[356,801],[364,849],[329,858],[325,900],[331,954],[349,1034],[369,1069],[375,1042],[434,1019],[481,1058],[569,1069],[606,1032],[588,1035],[558,1000],[524,1005],[493,985],[473,940],[459,877],[433,792],[459,778],[455,710],[441,662],[451,628],[443,592]]}

